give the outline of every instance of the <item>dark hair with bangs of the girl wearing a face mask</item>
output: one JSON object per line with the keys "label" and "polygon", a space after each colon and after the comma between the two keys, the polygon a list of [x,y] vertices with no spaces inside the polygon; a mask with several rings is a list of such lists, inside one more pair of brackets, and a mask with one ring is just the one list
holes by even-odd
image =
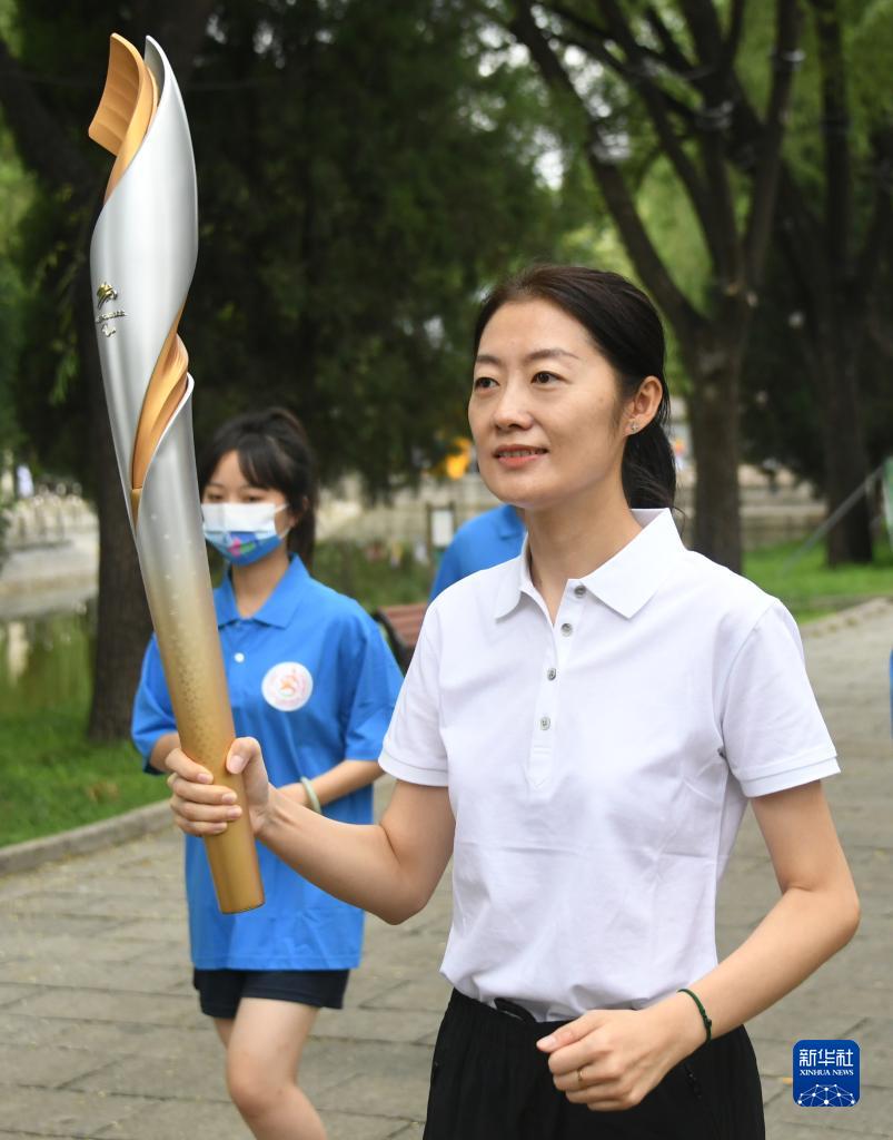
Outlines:
{"label": "dark hair with bangs of the girl wearing a face mask", "polygon": [[246,412],[218,429],[198,458],[198,490],[204,495],[218,464],[229,451],[254,487],[281,491],[298,522],[288,549],[309,567],[317,534],[317,464],[303,424],[286,408]]}

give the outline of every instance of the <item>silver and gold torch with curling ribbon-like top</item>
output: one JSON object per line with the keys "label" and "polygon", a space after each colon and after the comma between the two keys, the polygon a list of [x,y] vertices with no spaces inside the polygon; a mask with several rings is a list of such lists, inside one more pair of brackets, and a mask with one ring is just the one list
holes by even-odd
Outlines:
{"label": "silver and gold torch with curling ribbon-like top", "polygon": [[121,481],[183,751],[243,814],[205,840],[224,913],[263,903],[218,636],[192,445],[192,377],[177,335],[198,247],[195,162],[171,65],[112,36],[90,138],[115,155],[90,246],[97,340]]}

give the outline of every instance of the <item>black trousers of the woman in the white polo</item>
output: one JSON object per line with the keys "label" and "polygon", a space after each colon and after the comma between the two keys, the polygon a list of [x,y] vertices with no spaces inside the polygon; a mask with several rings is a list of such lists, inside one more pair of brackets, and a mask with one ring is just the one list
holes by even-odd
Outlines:
{"label": "black trousers of the woman in the white polo", "polygon": [[634,1108],[593,1113],[555,1088],[535,1047],[563,1024],[453,991],[434,1047],[424,1140],[764,1140],[744,1027],[702,1045]]}

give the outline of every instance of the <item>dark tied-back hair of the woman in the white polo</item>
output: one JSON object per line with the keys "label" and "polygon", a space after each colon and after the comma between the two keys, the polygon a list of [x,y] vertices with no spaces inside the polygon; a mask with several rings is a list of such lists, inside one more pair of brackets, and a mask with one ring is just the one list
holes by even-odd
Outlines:
{"label": "dark tied-back hair of the woman in the white polo", "polygon": [[670,393],[664,378],[664,331],[657,311],[632,282],[584,266],[531,266],[497,286],[484,300],[474,331],[474,356],[488,321],[510,301],[549,301],[580,321],[614,369],[621,397],[636,394],[646,376],[663,393],[647,427],[626,438],[623,494],[634,507],[671,507],[675,498],[675,458],[664,424]]}

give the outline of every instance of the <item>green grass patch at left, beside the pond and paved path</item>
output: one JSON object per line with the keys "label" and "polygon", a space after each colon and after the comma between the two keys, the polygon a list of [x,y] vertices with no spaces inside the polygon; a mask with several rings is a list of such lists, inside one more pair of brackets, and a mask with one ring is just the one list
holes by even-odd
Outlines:
{"label": "green grass patch at left, beside the pond and paved path", "polygon": [[87,710],[68,703],[3,718],[0,846],[95,823],[164,799],[130,742],[85,740]]}

